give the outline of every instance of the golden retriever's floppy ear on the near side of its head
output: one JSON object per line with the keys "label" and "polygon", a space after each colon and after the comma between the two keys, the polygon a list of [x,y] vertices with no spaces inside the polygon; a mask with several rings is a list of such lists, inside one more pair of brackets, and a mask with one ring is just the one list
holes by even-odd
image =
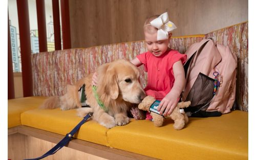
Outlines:
{"label": "golden retriever's floppy ear on the near side of its head", "polygon": [[111,99],[117,99],[119,95],[119,87],[117,82],[117,75],[115,68],[111,65],[103,65],[98,70],[99,72],[99,83],[98,83],[98,93],[108,94]]}

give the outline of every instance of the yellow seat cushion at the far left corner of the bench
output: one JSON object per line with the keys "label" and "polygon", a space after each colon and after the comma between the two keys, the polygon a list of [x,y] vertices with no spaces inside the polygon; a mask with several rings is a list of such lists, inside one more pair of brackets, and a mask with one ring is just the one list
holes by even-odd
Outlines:
{"label": "yellow seat cushion at the far left corner of the bench", "polygon": [[26,97],[8,100],[8,128],[21,125],[20,113],[38,108],[46,97]]}

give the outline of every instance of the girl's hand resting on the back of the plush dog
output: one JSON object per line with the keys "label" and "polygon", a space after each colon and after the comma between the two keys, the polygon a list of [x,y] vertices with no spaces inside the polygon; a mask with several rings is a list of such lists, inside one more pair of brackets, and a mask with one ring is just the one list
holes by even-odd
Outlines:
{"label": "girl's hand resting on the back of the plush dog", "polygon": [[161,115],[169,116],[173,112],[174,108],[177,106],[178,101],[179,95],[170,92],[162,99],[157,110],[160,112]]}

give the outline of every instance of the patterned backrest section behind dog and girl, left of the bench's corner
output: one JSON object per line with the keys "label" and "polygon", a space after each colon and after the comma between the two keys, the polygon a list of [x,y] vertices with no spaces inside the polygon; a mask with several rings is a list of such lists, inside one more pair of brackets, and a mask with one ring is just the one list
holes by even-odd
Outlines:
{"label": "patterned backrest section behind dog and girl, left of the bench's corner", "polygon": [[[170,41],[173,49],[184,52],[203,35],[177,37]],[[178,44],[179,43],[179,44]],[[144,41],[100,45],[87,49],[70,49],[32,55],[32,72],[35,96],[55,96],[66,93],[67,84],[94,73],[96,68],[116,59],[132,60],[147,51]],[[145,87],[147,75],[140,66],[141,83]]]}

